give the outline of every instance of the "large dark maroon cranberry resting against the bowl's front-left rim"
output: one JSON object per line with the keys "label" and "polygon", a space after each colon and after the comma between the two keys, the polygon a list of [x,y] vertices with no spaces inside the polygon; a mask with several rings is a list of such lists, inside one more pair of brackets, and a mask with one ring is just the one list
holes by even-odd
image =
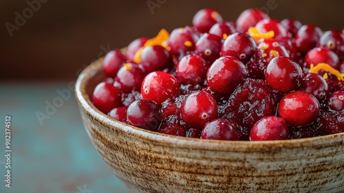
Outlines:
{"label": "large dark maroon cranberry resting against the bowl's front-left rim", "polygon": [[133,101],[127,110],[127,121],[138,128],[156,130],[161,121],[158,104],[147,99]]}

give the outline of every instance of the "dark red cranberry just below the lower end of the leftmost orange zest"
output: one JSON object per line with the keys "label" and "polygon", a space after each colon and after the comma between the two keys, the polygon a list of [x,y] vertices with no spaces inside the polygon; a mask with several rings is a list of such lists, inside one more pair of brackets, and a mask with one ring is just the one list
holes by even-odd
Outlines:
{"label": "dark red cranberry just below the lower end of the leftmost orange zest", "polygon": [[144,72],[137,64],[125,63],[118,70],[116,81],[120,84],[120,89],[125,93],[132,90],[140,90],[140,85],[144,79]]}

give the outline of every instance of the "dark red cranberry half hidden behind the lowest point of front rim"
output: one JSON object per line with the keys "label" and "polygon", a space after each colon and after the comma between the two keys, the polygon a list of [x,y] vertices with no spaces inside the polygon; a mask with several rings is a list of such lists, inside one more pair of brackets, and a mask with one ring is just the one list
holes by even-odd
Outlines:
{"label": "dark red cranberry half hidden behind the lowest point of front rim", "polygon": [[214,119],[206,123],[202,129],[201,139],[238,141],[239,136],[232,123],[226,119]]}

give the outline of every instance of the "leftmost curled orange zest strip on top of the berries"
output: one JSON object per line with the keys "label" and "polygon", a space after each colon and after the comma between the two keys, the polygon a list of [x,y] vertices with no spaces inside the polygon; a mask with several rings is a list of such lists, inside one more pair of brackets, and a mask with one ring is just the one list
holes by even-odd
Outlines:
{"label": "leftmost curled orange zest strip on top of the berries", "polygon": [[169,39],[169,37],[170,37],[169,32],[167,32],[165,29],[160,30],[160,32],[158,33],[156,37],[153,37],[152,39],[147,40],[146,43],[144,43],[144,45],[142,46],[142,48],[140,48],[136,52],[135,56],[133,57],[133,61],[136,63],[140,63],[142,50],[146,48],[147,46],[161,45],[166,50],[171,50],[171,48],[169,48],[169,45],[166,44],[166,41]]}

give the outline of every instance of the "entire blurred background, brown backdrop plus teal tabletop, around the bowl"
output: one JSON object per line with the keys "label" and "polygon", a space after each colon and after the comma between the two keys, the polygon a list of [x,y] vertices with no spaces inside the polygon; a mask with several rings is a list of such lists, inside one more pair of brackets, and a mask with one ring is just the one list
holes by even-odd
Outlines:
{"label": "entire blurred background, brown backdrop plus teal tabletop, around the bowl", "polygon": [[[89,141],[69,85],[110,50],[191,25],[202,8],[228,21],[259,8],[278,20],[344,28],[341,0],[0,1],[0,128],[10,115],[13,150],[12,187],[1,183],[0,192],[126,192]],[[6,162],[0,155],[1,181]]]}

